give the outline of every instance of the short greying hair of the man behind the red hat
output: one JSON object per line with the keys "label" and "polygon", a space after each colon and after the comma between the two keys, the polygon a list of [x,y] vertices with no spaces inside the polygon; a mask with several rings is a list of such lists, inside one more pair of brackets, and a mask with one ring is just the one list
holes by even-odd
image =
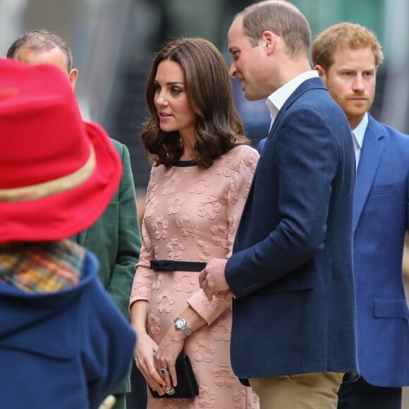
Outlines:
{"label": "short greying hair of the man behind the red hat", "polygon": [[20,35],[10,48],[7,50],[7,56],[11,59],[16,58],[18,50],[22,47],[28,48],[31,51],[41,53],[58,47],[63,51],[67,60],[67,71],[71,72],[73,69],[73,54],[68,44],[54,32],[47,30],[31,30],[23,35]]}

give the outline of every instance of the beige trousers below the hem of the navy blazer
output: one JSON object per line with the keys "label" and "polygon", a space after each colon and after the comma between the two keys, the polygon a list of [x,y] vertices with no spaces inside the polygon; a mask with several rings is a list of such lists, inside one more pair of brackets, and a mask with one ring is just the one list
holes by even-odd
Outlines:
{"label": "beige trousers below the hem of the navy blazer", "polygon": [[317,372],[251,378],[260,409],[336,409],[343,373]]}

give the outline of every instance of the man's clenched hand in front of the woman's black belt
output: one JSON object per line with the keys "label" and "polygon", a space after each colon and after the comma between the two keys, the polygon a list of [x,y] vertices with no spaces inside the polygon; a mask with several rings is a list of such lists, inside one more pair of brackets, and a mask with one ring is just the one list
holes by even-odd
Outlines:
{"label": "man's clenched hand in front of the woman's black belt", "polygon": [[199,274],[200,288],[204,291],[209,301],[213,295],[226,295],[230,289],[224,276],[227,260],[212,259]]}

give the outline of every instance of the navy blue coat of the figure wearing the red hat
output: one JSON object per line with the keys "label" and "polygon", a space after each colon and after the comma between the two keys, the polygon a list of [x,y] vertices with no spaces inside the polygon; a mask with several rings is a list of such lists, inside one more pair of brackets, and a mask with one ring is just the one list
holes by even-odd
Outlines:
{"label": "navy blue coat of the figure wearing the red hat", "polygon": [[78,286],[25,293],[0,283],[0,408],[94,409],[128,374],[135,333],[87,252]]}

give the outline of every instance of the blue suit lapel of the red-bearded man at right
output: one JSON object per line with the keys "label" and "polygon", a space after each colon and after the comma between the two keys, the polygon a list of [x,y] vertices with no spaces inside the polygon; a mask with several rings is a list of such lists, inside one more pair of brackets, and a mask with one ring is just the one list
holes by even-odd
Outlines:
{"label": "blue suit lapel of the red-bearded man at right", "polygon": [[368,194],[372,183],[374,182],[375,174],[381,160],[382,152],[384,152],[384,135],[377,122],[370,116],[370,121],[365,132],[364,142],[360,162],[358,165],[357,179],[355,184],[355,200],[353,214],[353,231],[356,226],[365,206]]}

